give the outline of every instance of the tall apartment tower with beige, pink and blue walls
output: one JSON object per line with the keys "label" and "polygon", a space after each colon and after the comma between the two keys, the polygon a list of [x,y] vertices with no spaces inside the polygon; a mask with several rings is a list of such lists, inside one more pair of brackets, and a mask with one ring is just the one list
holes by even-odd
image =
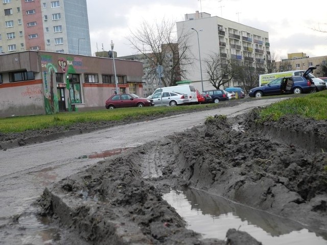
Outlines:
{"label": "tall apartment tower with beige, pink and blue walls", "polygon": [[86,0],[1,0],[0,53],[91,56]]}

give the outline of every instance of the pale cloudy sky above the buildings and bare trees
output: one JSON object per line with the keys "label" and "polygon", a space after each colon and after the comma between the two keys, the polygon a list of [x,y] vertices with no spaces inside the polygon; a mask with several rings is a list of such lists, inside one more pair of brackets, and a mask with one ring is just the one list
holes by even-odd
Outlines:
{"label": "pale cloudy sky above the buildings and bare trees", "polygon": [[273,59],[289,53],[327,56],[325,1],[312,6],[297,0],[87,0],[91,52],[109,51],[112,40],[118,57],[136,54],[127,40],[131,30],[145,21],[183,21],[198,10],[268,32]]}

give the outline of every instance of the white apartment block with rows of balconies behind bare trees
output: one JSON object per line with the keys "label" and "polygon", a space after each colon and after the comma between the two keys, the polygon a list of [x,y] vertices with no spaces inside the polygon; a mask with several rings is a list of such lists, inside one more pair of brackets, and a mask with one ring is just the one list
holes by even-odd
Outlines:
{"label": "white apartment block with rows of balconies behind bare trees", "polygon": [[[219,54],[222,59],[253,62],[253,67],[261,69],[271,61],[266,31],[199,11],[185,14],[184,21],[177,22],[176,26],[178,36],[190,34],[189,46],[194,62],[185,69],[189,72],[187,79],[199,90],[202,90],[202,84],[204,90],[214,89],[208,81],[203,62],[210,55]],[[237,81],[231,81],[228,85],[238,86]]]}

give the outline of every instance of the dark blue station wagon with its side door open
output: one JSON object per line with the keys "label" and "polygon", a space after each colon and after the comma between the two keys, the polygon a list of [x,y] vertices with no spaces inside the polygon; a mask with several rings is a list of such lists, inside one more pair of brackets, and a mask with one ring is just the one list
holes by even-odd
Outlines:
{"label": "dark blue station wagon with its side door open", "polygon": [[315,92],[316,86],[310,80],[302,76],[291,76],[277,78],[264,86],[250,89],[250,97],[261,97],[264,95],[283,93],[308,93]]}

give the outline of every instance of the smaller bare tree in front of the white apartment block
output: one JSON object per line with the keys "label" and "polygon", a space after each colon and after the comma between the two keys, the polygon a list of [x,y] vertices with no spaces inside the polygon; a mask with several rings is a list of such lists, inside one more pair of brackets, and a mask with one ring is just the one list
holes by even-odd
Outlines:
{"label": "smaller bare tree in front of the white apartment block", "polygon": [[220,89],[220,86],[233,79],[235,66],[237,66],[237,63],[233,60],[221,58],[217,53],[209,55],[208,58],[204,60],[204,63],[206,65],[206,73],[209,82],[216,89]]}

